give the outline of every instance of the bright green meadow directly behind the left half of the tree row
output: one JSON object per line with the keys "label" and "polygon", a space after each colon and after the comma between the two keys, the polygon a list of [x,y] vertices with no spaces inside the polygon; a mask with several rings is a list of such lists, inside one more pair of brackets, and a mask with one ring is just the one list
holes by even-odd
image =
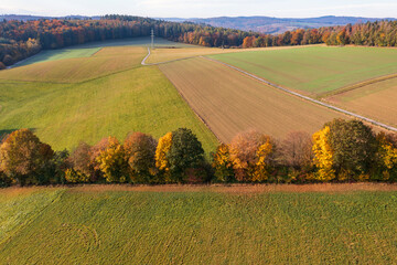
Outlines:
{"label": "bright green meadow directly behind the left half of the tree row", "polygon": [[191,128],[206,151],[217,145],[157,66],[77,84],[2,82],[0,94],[3,132],[31,128],[57,150],[110,135],[124,140],[129,131],[158,138],[179,127]]}

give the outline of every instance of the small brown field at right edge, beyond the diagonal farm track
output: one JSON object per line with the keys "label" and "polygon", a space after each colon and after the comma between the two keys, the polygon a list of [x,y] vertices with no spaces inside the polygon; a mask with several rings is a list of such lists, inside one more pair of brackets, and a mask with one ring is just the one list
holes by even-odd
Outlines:
{"label": "small brown field at right edge, beyond the diagonal farm track", "polygon": [[377,82],[325,99],[385,124],[397,125],[397,78]]}

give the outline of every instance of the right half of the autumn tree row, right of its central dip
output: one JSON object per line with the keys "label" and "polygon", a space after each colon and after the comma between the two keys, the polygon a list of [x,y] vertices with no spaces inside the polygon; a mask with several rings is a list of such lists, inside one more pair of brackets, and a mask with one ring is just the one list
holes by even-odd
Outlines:
{"label": "right half of the autumn tree row, right of its central dip", "polygon": [[343,119],[281,141],[251,131],[221,145],[212,166],[221,182],[396,181],[397,136]]}

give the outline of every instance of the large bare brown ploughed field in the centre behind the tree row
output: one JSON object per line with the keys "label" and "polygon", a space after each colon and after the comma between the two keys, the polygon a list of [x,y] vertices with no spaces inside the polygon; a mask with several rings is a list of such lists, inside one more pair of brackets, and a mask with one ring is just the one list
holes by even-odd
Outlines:
{"label": "large bare brown ploughed field in the centre behind the tree row", "polygon": [[342,117],[204,59],[159,67],[225,142],[248,129],[258,129],[277,138],[293,130],[313,132],[325,121]]}

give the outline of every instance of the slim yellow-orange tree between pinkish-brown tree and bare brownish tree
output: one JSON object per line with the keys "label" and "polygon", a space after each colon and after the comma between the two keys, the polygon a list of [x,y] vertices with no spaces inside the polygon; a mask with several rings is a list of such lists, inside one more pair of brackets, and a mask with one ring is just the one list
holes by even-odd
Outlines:
{"label": "slim yellow-orange tree between pinkish-brown tree and bare brownish tree", "polygon": [[253,176],[253,181],[262,182],[269,178],[269,165],[268,159],[271,155],[273,146],[271,145],[270,137],[264,145],[259,146],[257,150],[257,162]]}

